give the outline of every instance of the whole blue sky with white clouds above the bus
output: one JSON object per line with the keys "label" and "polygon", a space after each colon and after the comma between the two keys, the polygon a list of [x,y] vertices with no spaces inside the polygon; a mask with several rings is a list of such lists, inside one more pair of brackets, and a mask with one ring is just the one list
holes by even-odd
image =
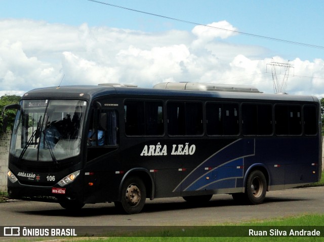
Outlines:
{"label": "whole blue sky with white clouds above the bus", "polygon": [[58,85],[190,81],[324,97],[322,0],[0,6],[0,96]]}

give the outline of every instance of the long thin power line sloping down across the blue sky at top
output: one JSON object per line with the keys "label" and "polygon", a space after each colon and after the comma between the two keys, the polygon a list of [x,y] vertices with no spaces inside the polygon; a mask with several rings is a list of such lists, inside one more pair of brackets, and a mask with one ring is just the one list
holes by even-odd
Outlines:
{"label": "long thin power line sloping down across the blue sky at top", "polygon": [[277,42],[283,42],[283,43],[288,43],[288,44],[301,45],[301,46],[305,46],[305,47],[311,47],[311,48],[315,48],[315,49],[324,50],[324,46],[321,46],[321,45],[301,43],[301,42],[296,42],[296,41],[291,41],[291,40],[285,40],[285,39],[279,39],[279,38],[272,38],[272,37],[258,35],[258,34],[251,34],[251,33],[245,33],[245,32],[230,30],[230,29],[224,29],[224,28],[219,28],[219,27],[215,27],[215,26],[210,26],[210,25],[207,25],[207,24],[200,24],[200,23],[195,23],[195,22],[191,22],[191,21],[186,21],[186,20],[171,18],[171,17],[167,17],[167,16],[163,16],[163,15],[148,13],[148,12],[144,12],[144,11],[140,11],[140,10],[136,10],[136,9],[130,9],[130,8],[126,8],[126,7],[121,7],[121,6],[117,6],[117,5],[113,5],[113,4],[108,4],[108,3],[96,1],[96,0],[88,0],[88,1],[94,2],[94,3],[97,3],[97,4],[103,4],[103,5],[115,7],[115,8],[125,9],[125,10],[129,10],[129,11],[137,12],[137,13],[147,14],[147,15],[151,15],[151,16],[155,16],[155,17],[170,19],[170,20],[174,20],[174,21],[178,21],[178,22],[182,22],[182,23],[199,25],[199,26],[205,26],[205,27],[208,27],[208,28],[219,29],[219,30],[228,31],[228,32],[237,33],[237,34],[242,34],[242,35],[247,35],[247,36],[251,36],[251,37],[255,37],[255,38],[262,38],[262,39],[267,39],[267,40],[272,40],[272,41],[277,41]]}

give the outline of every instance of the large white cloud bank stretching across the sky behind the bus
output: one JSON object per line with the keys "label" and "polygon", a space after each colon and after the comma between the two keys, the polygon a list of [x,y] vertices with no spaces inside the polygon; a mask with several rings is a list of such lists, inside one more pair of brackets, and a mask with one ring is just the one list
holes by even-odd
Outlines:
{"label": "large white cloud bank stretching across the sky behind the bus", "polygon": [[[236,30],[227,21],[210,25]],[[226,42],[234,35],[204,26],[191,32],[146,33],[86,23],[73,27],[0,20],[0,94],[56,86],[63,74],[62,85],[118,82],[151,87],[162,81],[199,81],[250,84],[273,92],[271,68],[267,68],[271,56],[265,58],[269,50]],[[290,64],[295,77],[289,76],[287,92],[324,96],[322,59],[296,58]]]}

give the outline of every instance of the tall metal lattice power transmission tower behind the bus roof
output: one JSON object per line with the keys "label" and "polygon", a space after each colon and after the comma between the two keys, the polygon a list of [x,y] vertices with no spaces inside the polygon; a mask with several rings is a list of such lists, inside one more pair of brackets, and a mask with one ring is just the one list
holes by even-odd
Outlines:
{"label": "tall metal lattice power transmission tower behind the bus roof", "polygon": [[[289,70],[294,67],[289,64],[289,61],[288,63],[279,63],[274,62],[273,58],[271,63],[268,63],[267,66],[268,65],[271,66],[274,93],[286,92]],[[280,75],[283,75],[284,77],[281,79]]]}

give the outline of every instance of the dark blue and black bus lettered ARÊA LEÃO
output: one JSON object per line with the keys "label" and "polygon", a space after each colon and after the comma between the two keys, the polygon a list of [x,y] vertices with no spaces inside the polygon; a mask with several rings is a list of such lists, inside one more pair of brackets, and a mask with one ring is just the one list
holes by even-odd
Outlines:
{"label": "dark blue and black bus lettered AR\u00caA LE\u00c3O", "polygon": [[7,109],[17,110],[12,199],[70,210],[111,202],[126,214],[167,197],[199,205],[229,194],[257,205],[267,191],[321,176],[314,96],[195,82],[74,85],[33,89]]}

